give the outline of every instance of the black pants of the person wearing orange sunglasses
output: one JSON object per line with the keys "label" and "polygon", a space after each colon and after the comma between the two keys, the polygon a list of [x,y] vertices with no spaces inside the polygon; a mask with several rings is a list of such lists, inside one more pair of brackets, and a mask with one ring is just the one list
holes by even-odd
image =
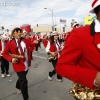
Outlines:
{"label": "black pants of the person wearing orange sunglasses", "polygon": [[24,100],[28,100],[28,81],[26,79],[27,71],[17,72],[18,80],[16,82],[16,88],[20,89]]}

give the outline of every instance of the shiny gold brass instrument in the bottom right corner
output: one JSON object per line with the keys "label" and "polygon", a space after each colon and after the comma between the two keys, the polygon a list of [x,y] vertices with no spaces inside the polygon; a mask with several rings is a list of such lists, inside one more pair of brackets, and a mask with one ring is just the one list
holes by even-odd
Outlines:
{"label": "shiny gold brass instrument in the bottom right corner", "polygon": [[76,100],[100,100],[100,87],[93,90],[73,83],[69,92]]}

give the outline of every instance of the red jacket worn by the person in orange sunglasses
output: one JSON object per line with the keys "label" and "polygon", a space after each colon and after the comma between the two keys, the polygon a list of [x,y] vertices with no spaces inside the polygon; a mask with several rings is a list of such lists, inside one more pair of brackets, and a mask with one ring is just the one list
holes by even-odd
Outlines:
{"label": "red jacket worn by the person in orange sunglasses", "polygon": [[[30,48],[30,43],[28,42],[28,39],[23,39],[22,41],[26,44],[26,50],[28,54],[28,64],[30,66],[32,48]],[[13,39],[7,42],[3,52],[3,57],[9,62],[11,62],[12,57],[9,55],[9,53],[17,54],[16,50],[17,50],[16,42]],[[18,63],[16,64],[13,63],[12,65],[15,72],[25,71],[25,65],[23,59],[18,59]]]}

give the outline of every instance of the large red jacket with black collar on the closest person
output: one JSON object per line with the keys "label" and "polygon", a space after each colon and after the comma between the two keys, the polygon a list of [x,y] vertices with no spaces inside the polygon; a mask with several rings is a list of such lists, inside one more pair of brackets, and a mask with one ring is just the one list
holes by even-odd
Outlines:
{"label": "large red jacket with black collar on the closest person", "polygon": [[93,24],[74,29],[56,66],[59,75],[89,88],[100,71],[100,33],[94,33]]}

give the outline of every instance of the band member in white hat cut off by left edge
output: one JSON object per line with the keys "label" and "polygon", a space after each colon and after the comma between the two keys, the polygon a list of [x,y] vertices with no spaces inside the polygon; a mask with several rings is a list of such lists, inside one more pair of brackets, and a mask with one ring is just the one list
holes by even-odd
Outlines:
{"label": "band member in white hat cut off by left edge", "polygon": [[[9,74],[9,62],[2,56],[2,53],[4,51],[4,48],[6,46],[6,43],[8,41],[8,36],[6,33],[4,33],[1,36],[1,41],[0,41],[0,58],[1,58],[1,77],[4,78],[5,76],[10,77]],[[6,73],[6,75],[5,75]]]}

